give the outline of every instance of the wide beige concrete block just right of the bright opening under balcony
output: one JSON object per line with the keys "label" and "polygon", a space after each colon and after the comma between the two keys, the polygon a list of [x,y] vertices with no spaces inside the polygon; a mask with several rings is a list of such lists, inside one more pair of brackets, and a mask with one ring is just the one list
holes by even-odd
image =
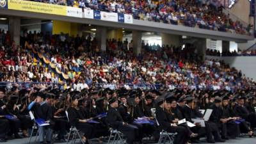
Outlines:
{"label": "wide beige concrete block just right of the bright opening under balcony", "polygon": [[175,45],[178,47],[180,45],[180,36],[179,35],[170,35],[166,33],[161,34],[162,45]]}

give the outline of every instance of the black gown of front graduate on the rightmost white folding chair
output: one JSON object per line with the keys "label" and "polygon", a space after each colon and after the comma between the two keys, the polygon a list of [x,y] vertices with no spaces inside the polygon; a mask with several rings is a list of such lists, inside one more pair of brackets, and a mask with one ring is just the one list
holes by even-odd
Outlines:
{"label": "black gown of front graduate on the rightmost white folding chair", "polygon": [[160,129],[164,129],[167,132],[175,133],[177,135],[174,137],[173,144],[185,144],[189,140],[189,131],[182,126],[173,127],[172,124],[172,116],[169,113],[164,111],[163,108],[156,109],[156,120],[159,124]]}

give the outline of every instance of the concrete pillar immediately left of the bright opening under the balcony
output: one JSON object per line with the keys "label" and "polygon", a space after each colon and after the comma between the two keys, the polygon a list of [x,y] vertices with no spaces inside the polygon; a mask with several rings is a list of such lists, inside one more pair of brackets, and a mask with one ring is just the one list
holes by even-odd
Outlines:
{"label": "concrete pillar immediately left of the bright opening under the balcony", "polygon": [[133,53],[138,55],[141,53],[141,37],[142,37],[142,32],[141,31],[132,31],[132,48],[133,48]]}

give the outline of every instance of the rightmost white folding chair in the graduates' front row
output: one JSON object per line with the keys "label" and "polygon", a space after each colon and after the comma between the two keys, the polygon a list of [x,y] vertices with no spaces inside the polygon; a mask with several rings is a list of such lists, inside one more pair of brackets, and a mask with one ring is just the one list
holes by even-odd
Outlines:
{"label": "rightmost white folding chair in the graduates' front row", "polygon": [[[156,119],[156,124],[157,124],[158,127],[160,126],[157,119]],[[169,141],[169,144],[173,144],[174,136],[176,134],[177,134],[177,132],[171,133],[171,132],[167,132],[167,131],[162,130],[160,132],[160,138],[159,138],[159,141],[158,141],[157,144],[166,143],[167,140]]]}

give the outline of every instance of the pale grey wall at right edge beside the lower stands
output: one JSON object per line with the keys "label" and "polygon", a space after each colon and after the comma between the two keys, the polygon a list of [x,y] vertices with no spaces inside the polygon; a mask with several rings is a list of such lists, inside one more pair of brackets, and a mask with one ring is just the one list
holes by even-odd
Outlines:
{"label": "pale grey wall at right edge beside the lower stands", "polygon": [[256,80],[256,56],[206,56],[207,59],[224,60],[230,67],[242,70],[246,77]]}

